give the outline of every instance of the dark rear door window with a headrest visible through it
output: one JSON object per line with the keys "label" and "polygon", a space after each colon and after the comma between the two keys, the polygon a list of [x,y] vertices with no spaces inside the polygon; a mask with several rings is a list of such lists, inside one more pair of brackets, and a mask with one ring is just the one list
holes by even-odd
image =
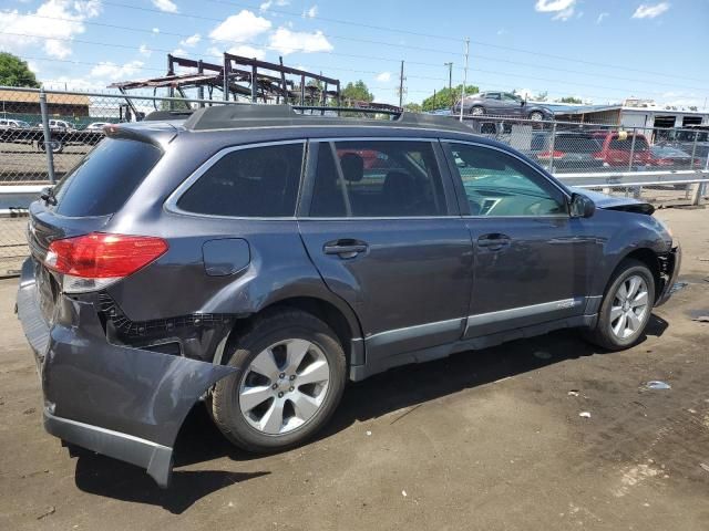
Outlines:
{"label": "dark rear door window with a headrest visible through it", "polygon": [[445,199],[428,142],[338,142],[319,146],[310,216],[443,216]]}

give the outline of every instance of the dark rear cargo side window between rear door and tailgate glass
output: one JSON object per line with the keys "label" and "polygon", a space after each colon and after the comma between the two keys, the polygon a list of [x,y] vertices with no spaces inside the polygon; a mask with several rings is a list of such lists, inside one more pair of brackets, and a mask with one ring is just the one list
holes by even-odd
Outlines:
{"label": "dark rear cargo side window between rear door and tailgate glass", "polygon": [[177,207],[212,216],[294,216],[302,149],[298,143],[227,153],[183,194]]}

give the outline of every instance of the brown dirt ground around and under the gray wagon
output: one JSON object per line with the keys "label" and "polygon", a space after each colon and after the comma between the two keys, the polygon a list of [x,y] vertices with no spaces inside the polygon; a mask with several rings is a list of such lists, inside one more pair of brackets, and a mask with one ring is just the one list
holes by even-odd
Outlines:
{"label": "brown dirt ground around and under the gray wagon", "polygon": [[691,320],[709,313],[709,210],[658,216],[688,284],[636,347],[566,331],[401,367],[350,385],[318,440],[267,457],[196,407],[165,491],[44,434],[17,281],[0,281],[0,529],[709,529],[709,324]]}

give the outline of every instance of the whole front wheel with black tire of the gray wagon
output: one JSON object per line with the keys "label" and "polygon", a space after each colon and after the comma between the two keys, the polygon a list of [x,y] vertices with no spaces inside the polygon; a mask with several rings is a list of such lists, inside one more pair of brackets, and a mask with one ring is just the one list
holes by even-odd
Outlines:
{"label": "whole front wheel with black tire of the gray wagon", "polygon": [[[624,299],[621,290],[626,292],[633,290],[633,282],[637,279],[643,283],[638,285],[635,294],[630,293],[630,296]],[[641,292],[645,292],[644,306],[638,302],[641,299]],[[638,260],[624,260],[610,278],[596,326],[585,331],[584,337],[608,351],[629,348],[643,336],[650,320],[654,302],[655,278],[648,267]],[[635,314],[637,322],[628,316],[629,312]]]}

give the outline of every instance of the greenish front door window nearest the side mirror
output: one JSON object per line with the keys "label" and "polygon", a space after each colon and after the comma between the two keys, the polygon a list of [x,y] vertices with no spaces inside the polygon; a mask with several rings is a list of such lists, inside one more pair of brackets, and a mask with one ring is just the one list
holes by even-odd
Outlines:
{"label": "greenish front door window nearest the side mirror", "polygon": [[496,149],[448,146],[473,216],[553,216],[566,212],[563,194],[521,160]]}

